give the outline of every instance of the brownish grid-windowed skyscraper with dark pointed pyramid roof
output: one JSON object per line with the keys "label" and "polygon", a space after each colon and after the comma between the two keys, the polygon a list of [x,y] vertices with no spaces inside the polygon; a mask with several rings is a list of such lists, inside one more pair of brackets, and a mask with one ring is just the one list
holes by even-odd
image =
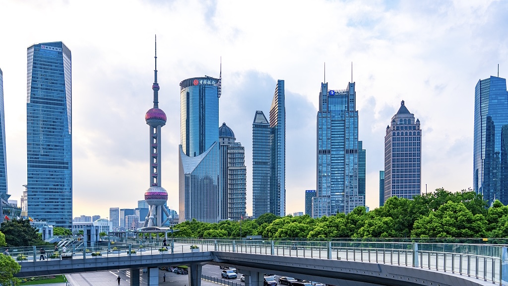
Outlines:
{"label": "brownish grid-windowed skyscraper with dark pointed pyramid roof", "polygon": [[402,100],[391,126],[386,127],[383,204],[392,196],[412,199],[421,194],[421,143],[420,120],[415,121]]}

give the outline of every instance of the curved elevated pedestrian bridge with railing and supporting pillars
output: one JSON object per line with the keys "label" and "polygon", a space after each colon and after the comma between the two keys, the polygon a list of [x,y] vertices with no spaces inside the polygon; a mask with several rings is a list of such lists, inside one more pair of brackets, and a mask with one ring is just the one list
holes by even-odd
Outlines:
{"label": "curved elevated pedestrian bridge with railing and supporting pillars", "polygon": [[[497,245],[174,239],[160,251],[161,241],[151,244],[68,249],[67,259],[44,261],[38,247],[9,251],[21,265],[18,277],[148,268],[149,285],[158,283],[158,266],[187,265],[189,285],[200,286],[204,264],[236,267],[246,286],[263,286],[264,273],[337,286],[506,285],[508,278],[506,247]],[[139,271],[131,271],[131,285],[139,285]]]}

